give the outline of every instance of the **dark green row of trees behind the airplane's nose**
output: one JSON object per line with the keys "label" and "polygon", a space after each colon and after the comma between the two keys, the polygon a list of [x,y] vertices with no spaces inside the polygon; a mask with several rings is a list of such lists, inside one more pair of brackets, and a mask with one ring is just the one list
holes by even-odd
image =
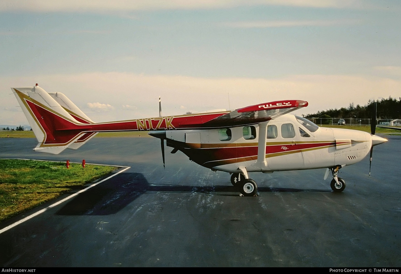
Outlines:
{"label": "dark green row of trees behind the airplane's nose", "polygon": [[369,100],[365,106],[351,103],[348,108],[322,110],[317,113],[307,114],[305,118],[357,118],[369,119],[372,118],[376,111],[377,119],[396,119],[401,117],[401,97],[399,99],[391,98],[379,100]]}

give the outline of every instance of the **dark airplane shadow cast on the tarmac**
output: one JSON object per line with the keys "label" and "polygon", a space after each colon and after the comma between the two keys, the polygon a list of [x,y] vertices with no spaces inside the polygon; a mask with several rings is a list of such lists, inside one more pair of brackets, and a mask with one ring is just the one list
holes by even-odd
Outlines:
{"label": "dark airplane shadow cast on the tarmac", "polygon": [[[229,183],[229,182],[227,182]],[[231,192],[217,194],[239,196],[236,187],[227,186],[183,186],[183,185],[150,185],[142,173],[122,173],[77,195],[64,205],[57,215],[109,215],[117,213],[143,193],[149,192]],[[318,191],[318,189],[292,189],[278,187],[259,187],[258,192],[300,192]]]}

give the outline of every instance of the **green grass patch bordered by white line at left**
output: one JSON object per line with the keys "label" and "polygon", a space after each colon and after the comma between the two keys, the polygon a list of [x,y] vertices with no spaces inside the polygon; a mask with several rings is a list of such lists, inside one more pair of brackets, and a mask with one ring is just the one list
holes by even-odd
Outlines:
{"label": "green grass patch bordered by white line at left", "polygon": [[0,222],[99,179],[117,168],[0,159]]}

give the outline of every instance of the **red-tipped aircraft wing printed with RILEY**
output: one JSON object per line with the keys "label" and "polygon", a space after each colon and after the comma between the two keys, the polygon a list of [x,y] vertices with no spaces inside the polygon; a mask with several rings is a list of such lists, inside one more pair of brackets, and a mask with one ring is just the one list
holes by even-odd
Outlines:
{"label": "red-tipped aircraft wing printed with RILEY", "polygon": [[258,124],[306,106],[308,106],[308,102],[301,100],[273,101],[248,106],[205,122],[202,127],[215,128]]}

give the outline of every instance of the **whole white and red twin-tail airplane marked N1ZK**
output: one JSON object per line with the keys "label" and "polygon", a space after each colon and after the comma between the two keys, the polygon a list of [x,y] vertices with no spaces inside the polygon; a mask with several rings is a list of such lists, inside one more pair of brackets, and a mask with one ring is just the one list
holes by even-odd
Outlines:
{"label": "whole white and red twin-tail airplane marked N1ZK", "polygon": [[[331,188],[343,191],[345,181],[338,170],[362,160],[373,146],[387,141],[358,130],[320,128],[305,118],[288,114],[308,106],[301,100],[274,101],[234,111],[159,116],[128,121],[95,123],[63,93],[47,93],[34,87],[11,88],[38,140],[34,150],[59,154],[77,149],[97,132],[149,131],[167,146],[186,154],[190,160],[232,174],[231,183],[244,196],[257,195],[251,172],[327,168]],[[160,100],[159,100],[160,102]],[[374,119],[375,121],[376,119]],[[370,171],[369,171],[370,173]]]}

